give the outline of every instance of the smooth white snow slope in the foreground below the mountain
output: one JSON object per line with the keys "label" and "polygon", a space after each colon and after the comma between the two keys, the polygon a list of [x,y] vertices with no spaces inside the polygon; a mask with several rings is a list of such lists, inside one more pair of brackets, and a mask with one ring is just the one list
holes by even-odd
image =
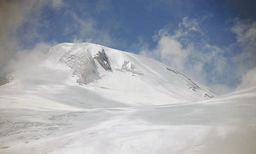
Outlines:
{"label": "smooth white snow slope in the foreground below the mountain", "polygon": [[256,153],[256,87],[199,102],[124,108],[4,96],[0,102],[0,153]]}

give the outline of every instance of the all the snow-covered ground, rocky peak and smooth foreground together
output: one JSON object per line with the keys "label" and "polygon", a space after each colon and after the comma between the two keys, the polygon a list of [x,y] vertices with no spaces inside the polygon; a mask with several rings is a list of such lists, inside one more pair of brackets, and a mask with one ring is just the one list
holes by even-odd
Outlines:
{"label": "all the snow-covered ground, rocky peak and smooth foreground together", "polygon": [[256,153],[256,87],[217,96],[92,43],[37,62],[0,80],[0,153]]}

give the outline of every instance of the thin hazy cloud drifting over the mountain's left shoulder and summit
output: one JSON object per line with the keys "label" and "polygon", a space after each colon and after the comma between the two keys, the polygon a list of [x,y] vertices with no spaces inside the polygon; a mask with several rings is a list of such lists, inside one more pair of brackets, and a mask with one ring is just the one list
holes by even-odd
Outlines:
{"label": "thin hazy cloud drifting over the mountain's left shoulder and summit", "polygon": [[[28,53],[36,52],[39,50],[39,46],[45,49],[43,46],[49,47],[49,45],[54,44],[54,42],[45,43],[43,34],[39,35],[39,28],[48,26],[47,21],[40,19],[43,11],[42,8],[45,5],[49,5],[57,10],[60,7],[67,7],[62,0],[6,0],[0,2],[0,19],[2,21],[0,22],[0,77],[14,69],[14,61],[17,63],[16,66],[19,66],[18,60],[20,58],[17,57],[22,57],[22,55],[31,57],[32,54]],[[98,1],[95,7],[96,12],[100,13],[111,7],[110,1]],[[73,39],[73,42],[92,42],[106,46],[113,45],[113,42],[122,43],[120,40],[111,37],[106,28],[98,26],[98,22],[91,16],[93,9],[86,10],[83,17],[66,9],[65,13],[70,14],[73,22],[65,29],[64,34],[69,35],[71,37],[70,39]],[[24,23],[29,23],[27,24],[29,26],[27,29],[30,32],[24,32],[25,34],[22,34],[22,40],[20,40],[20,38],[16,37],[16,33]],[[39,40],[40,43],[34,45],[34,40]],[[23,50],[20,48],[20,41],[31,43],[31,46],[35,46],[35,48],[28,51]]]}

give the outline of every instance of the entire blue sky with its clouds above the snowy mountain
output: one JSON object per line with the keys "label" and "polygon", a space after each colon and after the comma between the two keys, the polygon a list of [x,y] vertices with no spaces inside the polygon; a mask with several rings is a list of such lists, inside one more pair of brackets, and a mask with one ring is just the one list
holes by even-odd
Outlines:
{"label": "entire blue sky with its clouds above the snowy mountain", "polygon": [[0,61],[42,44],[92,42],[162,61],[227,93],[248,87],[247,73],[256,73],[255,8],[247,0],[1,1]]}

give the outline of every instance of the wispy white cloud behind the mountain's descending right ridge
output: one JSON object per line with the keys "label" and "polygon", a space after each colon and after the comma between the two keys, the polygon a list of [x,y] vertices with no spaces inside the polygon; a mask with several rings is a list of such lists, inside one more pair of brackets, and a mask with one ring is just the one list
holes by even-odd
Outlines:
{"label": "wispy white cloud behind the mountain's descending right ridge", "polygon": [[[202,20],[206,18],[202,17]],[[236,47],[211,45],[200,28],[202,20],[184,17],[174,31],[170,26],[164,26],[152,37],[157,48],[144,49],[140,54],[168,64],[217,93],[229,93],[236,88],[237,83],[233,81],[256,66],[256,23],[236,19],[231,31],[237,35],[236,45],[241,46],[242,51],[227,56],[225,54]]]}

